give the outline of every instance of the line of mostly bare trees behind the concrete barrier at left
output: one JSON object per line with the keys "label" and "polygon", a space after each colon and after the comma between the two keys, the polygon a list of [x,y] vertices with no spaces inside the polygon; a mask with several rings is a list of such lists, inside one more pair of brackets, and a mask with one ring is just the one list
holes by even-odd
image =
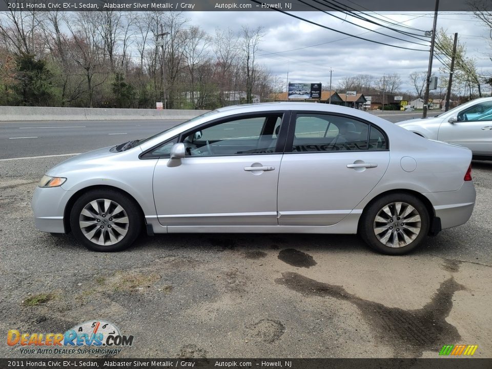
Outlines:
{"label": "line of mostly bare trees behind the concrete barrier at left", "polygon": [[[209,34],[180,12],[0,14],[0,105],[214,109],[268,95],[262,28]],[[235,92],[243,93],[234,96]]]}

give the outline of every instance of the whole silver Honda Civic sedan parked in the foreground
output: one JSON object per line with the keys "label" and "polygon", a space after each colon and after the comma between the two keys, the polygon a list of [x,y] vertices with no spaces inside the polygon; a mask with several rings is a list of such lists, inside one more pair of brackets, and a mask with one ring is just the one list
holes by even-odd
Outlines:
{"label": "whole silver Honda Civic sedan parked in the foreground", "polygon": [[95,251],[147,233],[356,234],[391,255],[465,223],[470,150],[351,108],[221,108],[46,173],[36,227]]}

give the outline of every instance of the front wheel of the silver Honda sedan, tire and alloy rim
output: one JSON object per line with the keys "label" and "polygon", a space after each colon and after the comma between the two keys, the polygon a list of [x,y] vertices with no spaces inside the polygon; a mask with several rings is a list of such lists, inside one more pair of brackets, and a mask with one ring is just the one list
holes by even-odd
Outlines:
{"label": "front wheel of the silver Honda sedan, tire and alloy rim", "polygon": [[125,250],[142,229],[135,201],[114,190],[94,190],[81,195],[70,212],[70,227],[78,242],[92,251]]}

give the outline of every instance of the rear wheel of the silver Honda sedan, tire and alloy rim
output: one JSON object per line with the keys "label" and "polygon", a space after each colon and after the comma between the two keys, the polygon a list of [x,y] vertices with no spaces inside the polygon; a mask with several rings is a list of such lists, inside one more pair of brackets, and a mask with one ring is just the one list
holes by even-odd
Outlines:
{"label": "rear wheel of the silver Honda sedan, tire and alloy rim", "polygon": [[381,254],[403,255],[420,245],[429,227],[429,213],[421,200],[410,194],[394,193],[368,206],[362,214],[359,234]]}

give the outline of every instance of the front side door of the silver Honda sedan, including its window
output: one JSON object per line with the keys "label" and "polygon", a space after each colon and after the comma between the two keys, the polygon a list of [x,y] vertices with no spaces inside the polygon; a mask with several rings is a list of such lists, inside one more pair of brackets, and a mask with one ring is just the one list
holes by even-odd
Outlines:
{"label": "front side door of the silver Honda sedan, including its window", "polygon": [[[153,179],[159,222],[177,227],[277,225],[283,115],[221,119],[155,148],[160,155]],[[176,163],[169,155],[162,157],[178,141],[185,144],[185,158]]]}

